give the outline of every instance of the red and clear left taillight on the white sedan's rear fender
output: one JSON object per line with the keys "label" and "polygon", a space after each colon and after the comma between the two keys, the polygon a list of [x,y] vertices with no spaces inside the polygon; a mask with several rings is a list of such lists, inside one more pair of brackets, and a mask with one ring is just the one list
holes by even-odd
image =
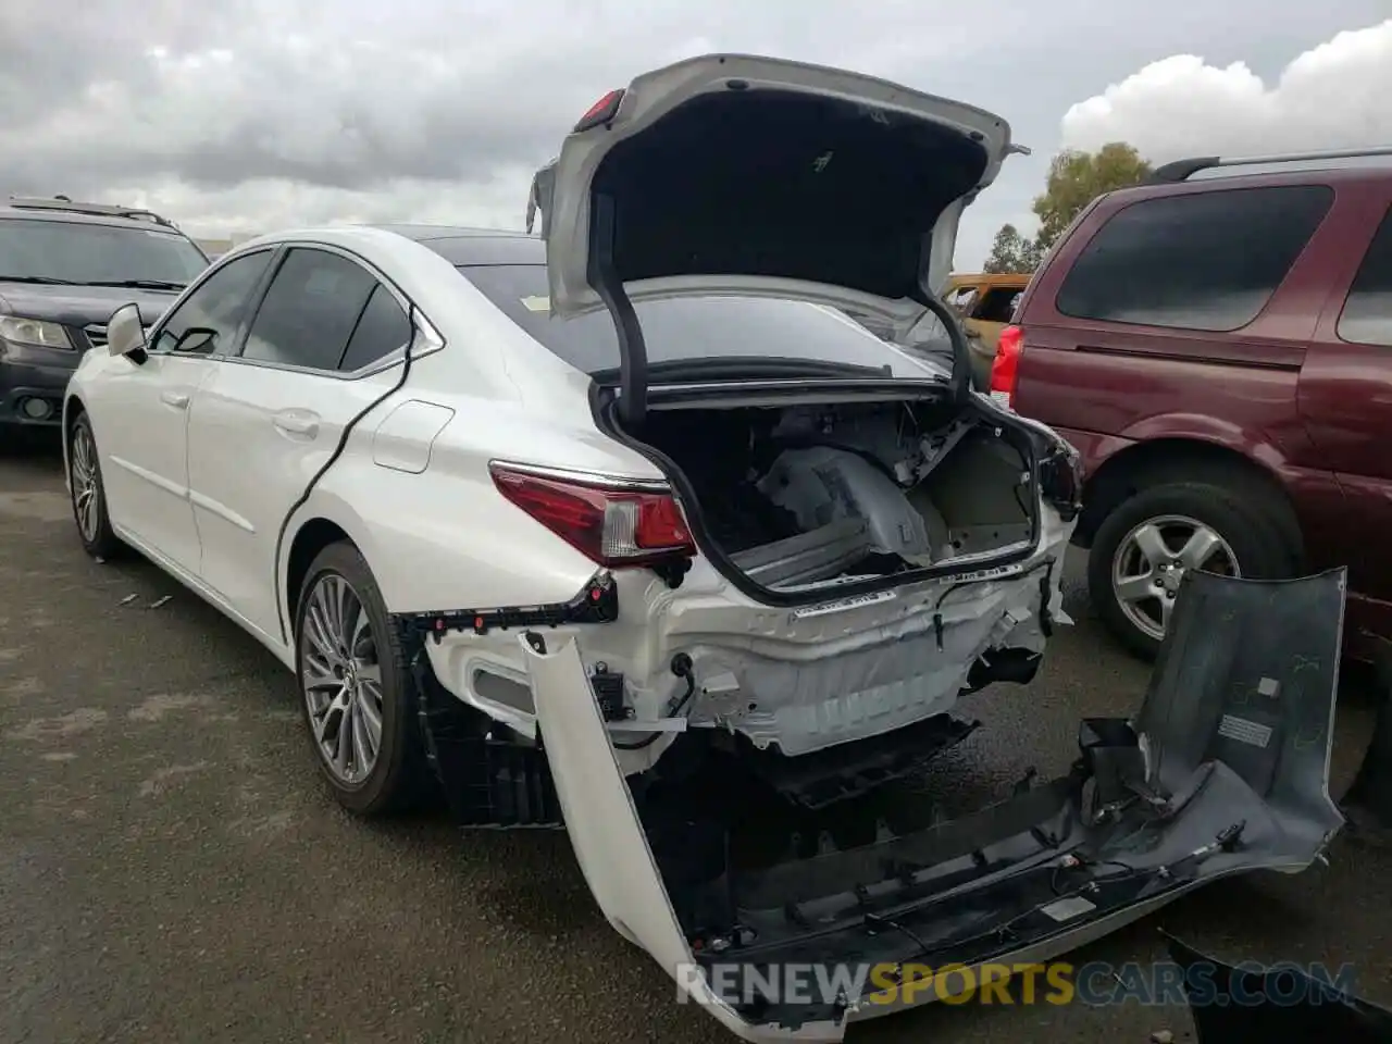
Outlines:
{"label": "red and clear left taillight on the white sedan's rear fender", "polygon": [[532,475],[505,465],[489,470],[498,493],[599,565],[653,565],[696,554],[671,493]]}

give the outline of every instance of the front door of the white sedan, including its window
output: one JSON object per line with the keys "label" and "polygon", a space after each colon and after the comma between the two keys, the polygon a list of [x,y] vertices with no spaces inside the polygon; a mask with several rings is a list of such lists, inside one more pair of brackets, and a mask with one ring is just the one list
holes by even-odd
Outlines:
{"label": "front door of the white sedan, including its window", "polygon": [[199,387],[231,351],[271,252],[212,271],[152,330],[143,363],[113,376],[93,404],[111,518],[146,550],[196,575],[187,427]]}

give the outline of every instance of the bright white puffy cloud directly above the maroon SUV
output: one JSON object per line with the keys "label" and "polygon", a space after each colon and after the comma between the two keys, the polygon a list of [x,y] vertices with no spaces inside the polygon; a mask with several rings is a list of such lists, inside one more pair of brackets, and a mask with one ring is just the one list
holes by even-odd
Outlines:
{"label": "bright white puffy cloud directly above the maroon SUV", "polygon": [[1270,86],[1242,61],[1154,61],[1063,116],[1065,146],[1111,141],[1157,163],[1392,145],[1392,19],[1307,50]]}

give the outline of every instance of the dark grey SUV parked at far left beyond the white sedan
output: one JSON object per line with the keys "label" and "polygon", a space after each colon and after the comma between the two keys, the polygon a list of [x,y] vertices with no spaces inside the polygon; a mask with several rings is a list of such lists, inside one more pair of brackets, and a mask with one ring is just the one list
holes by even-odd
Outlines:
{"label": "dark grey SUV parked at far left beyond the white sedan", "polygon": [[68,199],[0,205],[0,438],[57,427],[82,354],[106,344],[113,309],[159,319],[207,258],[149,210]]}

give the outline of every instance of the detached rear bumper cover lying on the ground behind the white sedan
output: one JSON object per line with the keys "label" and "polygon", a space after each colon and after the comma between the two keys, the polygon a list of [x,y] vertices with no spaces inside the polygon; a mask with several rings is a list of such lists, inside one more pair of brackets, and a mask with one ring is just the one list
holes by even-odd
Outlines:
{"label": "detached rear bumper cover lying on the ground behind the white sedan", "polygon": [[[1186,578],[1139,714],[1084,721],[1068,775],[864,848],[727,867],[699,895],[664,884],[574,643],[523,642],[567,828],[608,920],[739,1037],[837,1041],[848,1022],[935,998],[940,980],[885,992],[881,974],[792,1002],[750,997],[748,980],[721,997],[728,969],[686,969],[778,981],[770,966],[813,965],[835,981],[838,965],[1036,962],[1207,881],[1310,866],[1343,824],[1328,792],[1343,593],[1343,571]],[[713,896],[746,944],[693,956],[690,910],[709,922]]]}

